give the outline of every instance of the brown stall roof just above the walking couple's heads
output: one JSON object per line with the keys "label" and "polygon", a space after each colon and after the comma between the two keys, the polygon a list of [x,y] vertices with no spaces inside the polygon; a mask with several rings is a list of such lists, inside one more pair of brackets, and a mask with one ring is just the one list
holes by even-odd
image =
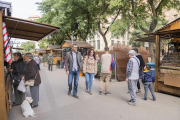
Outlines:
{"label": "brown stall roof just above the walking couple's heads", "polygon": [[[94,48],[91,44],[85,42],[85,41],[73,41],[73,44],[77,44],[78,47],[82,48]],[[65,40],[62,44],[62,48],[71,47],[72,41],[71,40]]]}

